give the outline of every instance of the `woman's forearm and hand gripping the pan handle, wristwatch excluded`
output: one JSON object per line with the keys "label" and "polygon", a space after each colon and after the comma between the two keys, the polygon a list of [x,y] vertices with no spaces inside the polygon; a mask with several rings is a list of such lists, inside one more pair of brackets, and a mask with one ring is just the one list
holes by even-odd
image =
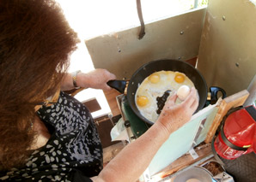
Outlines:
{"label": "woman's forearm and hand gripping the pan handle, wristwatch excluded", "polygon": [[[77,73],[76,85],[82,88],[94,88],[102,90],[110,90],[107,81],[116,79],[113,73],[108,72],[106,69],[94,69],[88,73]],[[71,73],[67,73],[61,83],[62,91],[70,91],[74,89],[73,79]]]}

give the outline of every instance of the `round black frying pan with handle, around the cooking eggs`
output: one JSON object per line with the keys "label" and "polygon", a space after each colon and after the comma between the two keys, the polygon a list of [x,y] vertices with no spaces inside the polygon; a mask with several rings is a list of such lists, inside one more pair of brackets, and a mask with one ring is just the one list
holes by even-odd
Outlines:
{"label": "round black frying pan with handle, around the cooking eggs", "polygon": [[[128,103],[130,104],[132,111],[135,114],[137,114],[137,116],[141,120],[144,120],[150,125],[154,124],[154,122],[147,120],[145,117],[143,117],[143,115],[140,114],[139,110],[137,109],[137,106],[135,103],[136,102],[135,94],[137,91],[137,87],[143,82],[143,79],[147,78],[151,73],[155,73],[162,70],[174,71],[174,72],[177,71],[177,72],[185,73],[186,76],[192,80],[193,84],[198,90],[199,104],[196,112],[204,108],[204,104],[206,103],[206,99],[207,99],[207,85],[201,73],[199,73],[196,68],[192,67],[192,65],[187,62],[182,62],[177,60],[157,60],[153,62],[148,62],[144,64],[141,68],[138,68],[137,71],[132,74],[129,84],[127,86]],[[113,87],[114,89],[116,89],[121,93],[124,93],[125,87],[126,87],[126,81],[111,80],[107,82],[107,85]],[[221,88],[220,88],[220,91],[222,91],[222,95],[224,97],[225,91],[223,91]],[[216,90],[215,92],[217,93]]]}

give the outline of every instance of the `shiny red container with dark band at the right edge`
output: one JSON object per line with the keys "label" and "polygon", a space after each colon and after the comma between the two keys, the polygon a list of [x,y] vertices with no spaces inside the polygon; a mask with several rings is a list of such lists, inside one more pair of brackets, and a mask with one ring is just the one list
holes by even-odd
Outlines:
{"label": "shiny red container with dark band at the right edge", "polygon": [[235,159],[252,151],[256,153],[256,109],[248,106],[228,115],[214,148],[225,159]]}

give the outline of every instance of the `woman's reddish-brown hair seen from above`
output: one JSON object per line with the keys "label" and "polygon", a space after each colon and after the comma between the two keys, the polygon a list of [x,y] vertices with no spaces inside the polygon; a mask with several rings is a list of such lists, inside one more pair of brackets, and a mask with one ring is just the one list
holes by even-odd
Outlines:
{"label": "woman's reddish-brown hair seen from above", "polygon": [[58,3],[0,1],[0,169],[24,165],[34,104],[52,95],[79,42]]}

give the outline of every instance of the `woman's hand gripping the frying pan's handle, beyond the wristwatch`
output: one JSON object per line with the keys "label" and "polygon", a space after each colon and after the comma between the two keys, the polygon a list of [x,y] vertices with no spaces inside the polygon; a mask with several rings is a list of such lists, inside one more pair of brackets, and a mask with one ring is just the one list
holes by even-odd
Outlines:
{"label": "woman's hand gripping the frying pan's handle, beyond the wristwatch", "polygon": [[77,74],[76,83],[80,87],[102,89],[104,91],[109,91],[112,88],[107,85],[107,81],[116,79],[113,73],[107,71],[107,69],[94,69],[88,73]]}

